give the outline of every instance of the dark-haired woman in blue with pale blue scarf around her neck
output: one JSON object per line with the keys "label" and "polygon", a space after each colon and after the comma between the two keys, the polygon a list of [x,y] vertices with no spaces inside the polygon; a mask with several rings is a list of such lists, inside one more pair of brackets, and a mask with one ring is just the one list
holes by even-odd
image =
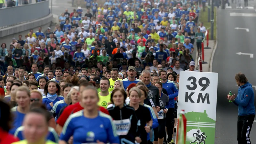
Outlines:
{"label": "dark-haired woman in blue with pale blue scarf around her neck", "polygon": [[60,96],[60,85],[55,81],[48,81],[44,87],[43,104],[47,110],[52,110],[53,105],[64,98]]}

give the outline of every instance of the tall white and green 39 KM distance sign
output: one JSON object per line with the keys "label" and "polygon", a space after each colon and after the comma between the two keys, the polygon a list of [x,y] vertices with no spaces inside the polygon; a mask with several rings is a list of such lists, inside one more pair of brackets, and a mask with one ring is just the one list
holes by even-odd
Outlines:
{"label": "tall white and green 39 KM distance sign", "polygon": [[186,144],[214,144],[217,87],[218,73],[180,71],[178,111],[184,109],[187,118]]}

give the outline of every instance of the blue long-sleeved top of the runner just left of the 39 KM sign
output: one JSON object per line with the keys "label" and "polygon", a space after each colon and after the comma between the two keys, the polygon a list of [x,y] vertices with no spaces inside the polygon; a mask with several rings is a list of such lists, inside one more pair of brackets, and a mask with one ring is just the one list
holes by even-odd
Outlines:
{"label": "blue long-sleeved top of the runner just left of the 39 KM sign", "polygon": [[169,105],[166,108],[174,108],[174,98],[179,95],[178,88],[173,81],[167,80],[166,83],[162,83],[163,88],[166,89],[168,97],[169,97]]}

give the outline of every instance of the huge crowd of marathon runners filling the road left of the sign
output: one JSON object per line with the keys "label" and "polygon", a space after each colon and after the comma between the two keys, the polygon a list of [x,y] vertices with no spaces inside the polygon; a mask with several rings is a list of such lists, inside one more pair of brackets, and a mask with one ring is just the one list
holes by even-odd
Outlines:
{"label": "huge crowd of marathon runners filling the road left of the sign", "polygon": [[85,2],[54,30],[1,44],[0,140],[174,144],[180,71],[197,71],[206,31],[201,1]]}

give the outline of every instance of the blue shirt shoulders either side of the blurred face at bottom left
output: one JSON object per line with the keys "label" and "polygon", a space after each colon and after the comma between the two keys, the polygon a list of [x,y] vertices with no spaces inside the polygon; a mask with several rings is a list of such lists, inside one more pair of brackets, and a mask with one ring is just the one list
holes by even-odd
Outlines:
{"label": "blue shirt shoulders either side of the blurred face at bottom left", "polygon": [[[23,137],[23,134],[22,134],[23,131],[24,131],[24,126],[20,126],[15,131],[13,136],[19,138],[20,140],[24,140],[24,137]],[[58,143],[59,136],[58,136],[57,132],[55,132],[54,128],[48,127],[48,135],[47,135],[46,139]]]}

